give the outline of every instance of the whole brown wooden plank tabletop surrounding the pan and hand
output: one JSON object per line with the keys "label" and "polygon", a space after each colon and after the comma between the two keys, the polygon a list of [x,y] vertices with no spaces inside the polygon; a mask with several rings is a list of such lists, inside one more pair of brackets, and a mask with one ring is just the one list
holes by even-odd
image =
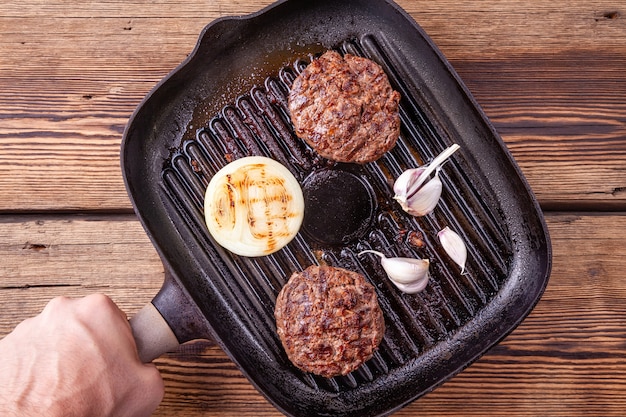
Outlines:
{"label": "whole brown wooden plank tabletop surrounding the pan and hand", "polygon": [[[125,124],[213,19],[269,0],[0,4],[0,337],[57,295],[130,315],[163,267],[119,167]],[[626,410],[626,5],[399,0],[494,123],[554,251],[530,316],[397,416],[609,416]],[[211,342],[156,361],[155,416],[279,413]]]}

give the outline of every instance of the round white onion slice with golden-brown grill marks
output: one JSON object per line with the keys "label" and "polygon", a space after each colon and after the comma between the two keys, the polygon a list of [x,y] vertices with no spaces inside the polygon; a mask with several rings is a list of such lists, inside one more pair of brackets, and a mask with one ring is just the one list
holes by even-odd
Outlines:
{"label": "round white onion slice with golden-brown grill marks", "polygon": [[231,162],[211,178],[204,214],[217,243],[238,255],[263,256],[281,249],[298,233],[304,198],[286,167],[251,156]]}

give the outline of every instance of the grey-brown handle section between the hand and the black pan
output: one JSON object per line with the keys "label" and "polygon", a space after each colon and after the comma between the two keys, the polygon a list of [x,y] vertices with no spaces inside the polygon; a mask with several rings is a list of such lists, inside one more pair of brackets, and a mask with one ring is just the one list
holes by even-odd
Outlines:
{"label": "grey-brown handle section between the hand and the black pan", "polygon": [[129,322],[141,362],[152,362],[163,353],[178,348],[176,335],[154,304],[146,304]]}

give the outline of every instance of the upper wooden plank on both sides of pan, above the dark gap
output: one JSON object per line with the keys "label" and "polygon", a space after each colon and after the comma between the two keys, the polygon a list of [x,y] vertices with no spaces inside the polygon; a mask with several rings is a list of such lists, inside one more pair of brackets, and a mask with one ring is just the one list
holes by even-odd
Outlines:
{"label": "upper wooden plank on both sides of pan, above the dark gap", "polygon": [[[269,3],[0,4],[0,211],[130,210],[119,145],[134,108],[208,22]],[[583,0],[399,4],[457,68],[544,207],[626,206],[626,12]]]}

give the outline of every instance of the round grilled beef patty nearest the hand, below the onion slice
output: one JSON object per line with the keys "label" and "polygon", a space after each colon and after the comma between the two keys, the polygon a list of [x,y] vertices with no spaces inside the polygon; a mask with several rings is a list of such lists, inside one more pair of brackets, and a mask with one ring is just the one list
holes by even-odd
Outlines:
{"label": "round grilled beef patty nearest the hand, below the onion slice", "polygon": [[327,378],[370,359],[385,333],[374,287],[352,271],[310,266],[294,273],[276,300],[276,327],[298,368]]}

